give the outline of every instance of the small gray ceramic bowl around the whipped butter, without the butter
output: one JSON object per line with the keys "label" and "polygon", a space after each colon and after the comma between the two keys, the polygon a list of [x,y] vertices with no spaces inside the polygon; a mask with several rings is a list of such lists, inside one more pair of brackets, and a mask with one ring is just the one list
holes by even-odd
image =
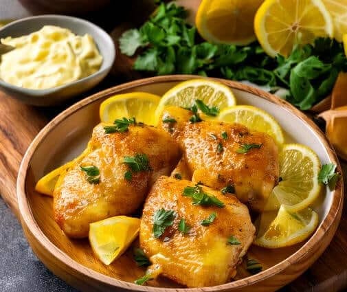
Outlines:
{"label": "small gray ceramic bowl around the whipped butter, without the butter", "polygon": [[100,54],[103,57],[103,61],[100,69],[91,76],[52,89],[25,89],[23,87],[10,85],[8,82],[4,82],[0,79],[1,90],[8,93],[12,98],[36,106],[52,106],[60,104],[69,98],[91,89],[107,76],[111,70],[113,61],[115,60],[115,46],[111,36],[89,21],[71,16],[52,14],[32,16],[19,21],[14,21],[1,28],[0,38],[30,34],[40,30],[44,25],[65,27],[78,35],[90,34],[96,42]]}

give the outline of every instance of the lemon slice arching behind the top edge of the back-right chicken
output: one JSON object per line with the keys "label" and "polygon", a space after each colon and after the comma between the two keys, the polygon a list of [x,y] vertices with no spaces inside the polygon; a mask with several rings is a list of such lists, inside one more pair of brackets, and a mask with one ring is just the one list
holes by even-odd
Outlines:
{"label": "lemon slice arching behind the top edge of the back-right chicken", "polygon": [[280,125],[269,113],[256,106],[237,105],[224,109],[218,117],[219,120],[229,123],[238,123],[247,126],[250,130],[267,133],[278,144],[284,143],[284,136]]}

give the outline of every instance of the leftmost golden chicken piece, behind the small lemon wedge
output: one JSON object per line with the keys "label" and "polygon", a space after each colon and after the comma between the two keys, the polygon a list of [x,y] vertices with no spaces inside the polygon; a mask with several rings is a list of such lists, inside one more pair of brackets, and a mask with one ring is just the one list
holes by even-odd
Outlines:
{"label": "leftmost golden chicken piece, behind the small lemon wedge", "polygon": [[88,236],[89,223],[131,214],[154,181],[170,174],[179,146],[166,132],[129,126],[124,133],[93,129],[89,154],[60,175],[54,190],[54,216],[71,237]]}

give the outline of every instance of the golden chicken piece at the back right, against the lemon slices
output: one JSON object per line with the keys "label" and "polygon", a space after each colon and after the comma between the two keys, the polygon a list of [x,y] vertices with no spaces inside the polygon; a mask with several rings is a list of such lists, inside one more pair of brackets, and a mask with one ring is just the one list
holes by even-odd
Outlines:
{"label": "golden chicken piece at the back right, against the lemon slices", "polygon": [[240,124],[190,122],[191,117],[192,111],[172,106],[164,110],[159,123],[183,149],[184,161],[174,172],[183,172],[185,179],[190,174],[193,182],[216,190],[235,192],[240,201],[260,212],[278,183],[276,143]]}

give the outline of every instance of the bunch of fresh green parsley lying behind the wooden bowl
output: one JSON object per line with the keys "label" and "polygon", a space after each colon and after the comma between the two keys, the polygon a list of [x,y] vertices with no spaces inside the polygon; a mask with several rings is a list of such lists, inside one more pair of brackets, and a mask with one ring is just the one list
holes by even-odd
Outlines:
{"label": "bunch of fresh green parsley lying behind the wooden bowl", "polygon": [[271,58],[257,42],[245,46],[203,42],[186,16],[175,3],[159,3],[142,27],[122,34],[121,52],[127,56],[139,52],[134,69],[156,75],[199,74],[247,80],[271,92],[284,88],[288,92],[284,98],[302,110],[325,98],[339,71],[347,71],[343,45],[330,38],[297,47],[288,58]]}

